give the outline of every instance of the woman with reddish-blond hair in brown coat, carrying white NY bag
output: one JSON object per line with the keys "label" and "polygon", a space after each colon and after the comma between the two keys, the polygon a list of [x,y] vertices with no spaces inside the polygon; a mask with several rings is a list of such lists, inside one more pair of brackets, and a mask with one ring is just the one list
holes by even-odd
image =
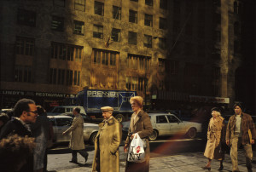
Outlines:
{"label": "woman with reddish-blond hair in brown coat, carrying white NY bag", "polygon": [[125,172],[148,172],[149,171],[149,158],[150,158],[150,149],[149,149],[149,141],[148,136],[153,132],[152,124],[150,122],[150,118],[147,112],[143,112],[143,98],[141,96],[131,97],[130,100],[132,111],[134,112],[131,116],[130,129],[125,140],[125,152],[128,152],[128,148],[130,147],[131,140],[134,134],[138,134],[141,139],[146,140],[146,148],[145,151],[145,161],[142,163],[131,163],[127,161],[126,158],[126,166]]}

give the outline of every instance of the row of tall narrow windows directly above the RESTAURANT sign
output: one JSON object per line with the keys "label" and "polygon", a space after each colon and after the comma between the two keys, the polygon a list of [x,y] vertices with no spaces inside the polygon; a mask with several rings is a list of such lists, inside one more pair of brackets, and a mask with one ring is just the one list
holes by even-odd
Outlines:
{"label": "row of tall narrow windows directly above the RESTAURANT sign", "polygon": [[68,69],[49,69],[49,83],[58,85],[80,85],[80,72]]}

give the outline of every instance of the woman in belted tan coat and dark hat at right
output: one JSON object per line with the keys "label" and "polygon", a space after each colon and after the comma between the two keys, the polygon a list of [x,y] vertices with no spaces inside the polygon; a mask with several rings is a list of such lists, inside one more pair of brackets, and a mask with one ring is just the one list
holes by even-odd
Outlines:
{"label": "woman in belted tan coat and dark hat at right", "polygon": [[212,118],[210,119],[207,130],[207,147],[204,156],[208,158],[208,163],[202,169],[211,170],[212,159],[217,159],[219,169],[222,170],[224,151],[222,150],[222,143],[224,142],[224,118],[221,117],[218,107],[212,108]]}

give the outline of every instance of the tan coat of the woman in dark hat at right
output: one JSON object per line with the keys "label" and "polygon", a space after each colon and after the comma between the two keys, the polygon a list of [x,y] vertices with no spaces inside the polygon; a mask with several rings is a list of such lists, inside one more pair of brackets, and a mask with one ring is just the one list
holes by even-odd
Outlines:
{"label": "tan coat of the woman in dark hat at right", "polygon": [[218,117],[214,121],[210,119],[207,130],[207,147],[204,156],[210,159],[221,160],[224,158],[224,153],[221,152],[221,140],[224,137],[224,118]]}

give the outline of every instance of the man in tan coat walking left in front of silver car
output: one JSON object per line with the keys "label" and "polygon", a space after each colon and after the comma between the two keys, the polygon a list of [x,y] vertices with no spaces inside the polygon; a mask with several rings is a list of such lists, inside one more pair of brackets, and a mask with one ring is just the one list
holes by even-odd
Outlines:
{"label": "man in tan coat walking left in front of silver car", "polygon": [[80,115],[79,107],[74,108],[73,115],[75,118],[73,119],[71,127],[62,133],[62,135],[67,135],[72,132],[69,142],[69,148],[72,150],[72,160],[69,162],[78,163],[77,154],[79,152],[79,154],[85,159],[86,163],[89,154],[88,152],[85,152],[84,149],[84,118]]}

